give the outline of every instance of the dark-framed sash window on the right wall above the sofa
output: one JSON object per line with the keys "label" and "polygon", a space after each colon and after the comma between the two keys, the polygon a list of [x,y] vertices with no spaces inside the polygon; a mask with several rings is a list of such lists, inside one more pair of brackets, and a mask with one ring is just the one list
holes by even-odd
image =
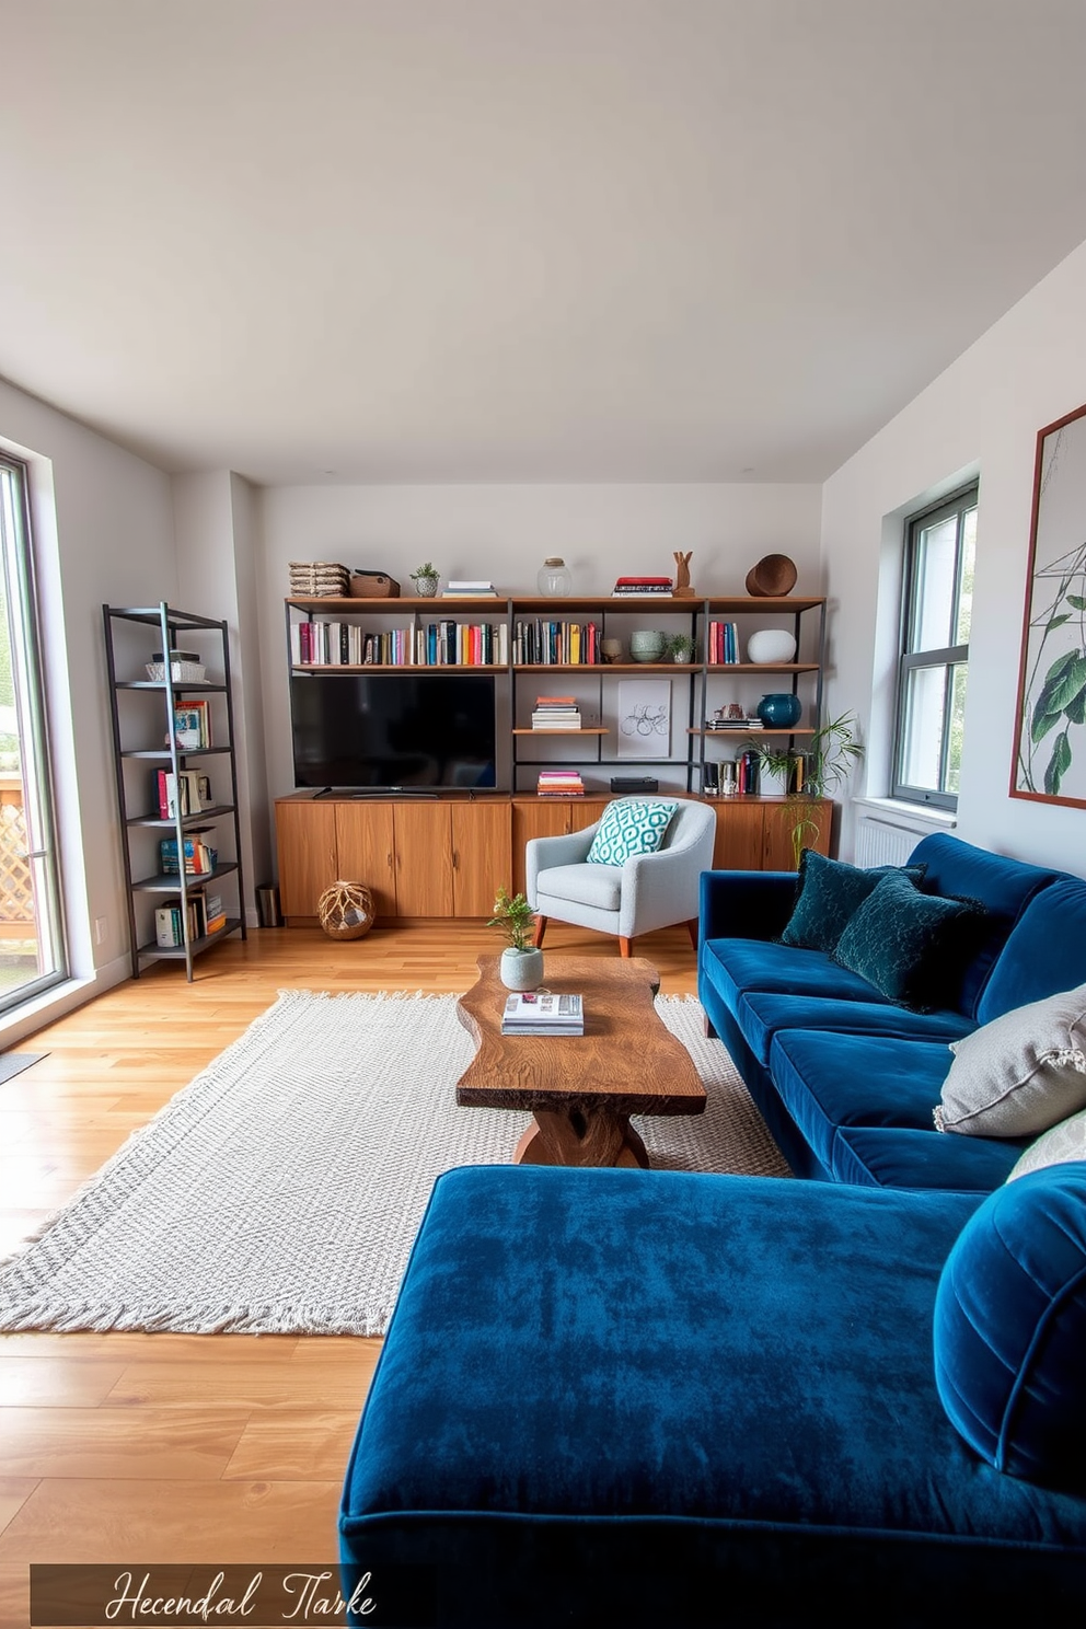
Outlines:
{"label": "dark-framed sash window on the right wall above the sofa", "polygon": [[913,515],[905,534],[894,797],[957,806],[977,552],[977,487]]}

